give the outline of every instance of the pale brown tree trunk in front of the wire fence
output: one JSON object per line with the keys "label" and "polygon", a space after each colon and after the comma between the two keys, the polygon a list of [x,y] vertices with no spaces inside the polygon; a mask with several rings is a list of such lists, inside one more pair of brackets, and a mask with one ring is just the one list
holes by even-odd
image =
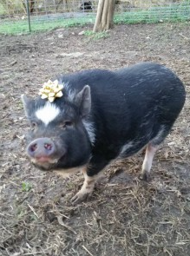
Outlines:
{"label": "pale brown tree trunk in front of the wire fence", "polygon": [[99,0],[94,32],[109,30],[113,27],[115,0]]}

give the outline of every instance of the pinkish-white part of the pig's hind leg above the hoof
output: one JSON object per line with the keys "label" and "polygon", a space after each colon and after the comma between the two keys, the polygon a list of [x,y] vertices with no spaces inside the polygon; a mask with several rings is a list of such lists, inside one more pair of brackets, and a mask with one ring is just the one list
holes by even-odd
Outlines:
{"label": "pinkish-white part of the pig's hind leg above the hoof", "polygon": [[149,174],[150,173],[150,169],[151,169],[152,163],[153,163],[154,154],[156,153],[158,148],[159,148],[159,146],[153,146],[151,144],[147,144],[147,149],[146,149],[145,159],[142,164],[141,174],[145,174],[145,173]]}

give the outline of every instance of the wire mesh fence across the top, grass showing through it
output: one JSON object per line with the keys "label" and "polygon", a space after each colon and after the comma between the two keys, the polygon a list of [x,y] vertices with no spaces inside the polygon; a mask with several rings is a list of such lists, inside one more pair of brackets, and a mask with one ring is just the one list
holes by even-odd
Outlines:
{"label": "wire mesh fence across the top, grass showing through it", "polygon": [[[115,23],[190,20],[190,0],[115,1]],[[94,23],[98,0],[0,0],[0,33]]]}

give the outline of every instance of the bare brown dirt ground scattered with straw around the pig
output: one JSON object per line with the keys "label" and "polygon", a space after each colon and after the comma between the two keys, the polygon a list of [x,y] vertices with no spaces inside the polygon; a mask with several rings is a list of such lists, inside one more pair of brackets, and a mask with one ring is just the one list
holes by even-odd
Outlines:
{"label": "bare brown dirt ground scattered with straw around the pig", "polygon": [[[0,255],[190,255],[190,23],[91,27],[1,36]],[[101,38],[102,37],[102,38]],[[27,121],[20,95],[35,96],[52,76],[161,62],[180,76],[187,101],[154,159],[150,182],[138,180],[144,152],[114,162],[92,198],[72,205],[82,174],[45,174],[24,154]]]}

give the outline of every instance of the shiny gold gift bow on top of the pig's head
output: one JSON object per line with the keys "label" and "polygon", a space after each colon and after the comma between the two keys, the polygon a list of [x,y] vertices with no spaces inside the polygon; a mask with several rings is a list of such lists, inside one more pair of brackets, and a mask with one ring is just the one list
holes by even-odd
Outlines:
{"label": "shiny gold gift bow on top of the pig's head", "polygon": [[40,89],[39,95],[42,99],[48,99],[49,102],[54,102],[56,98],[62,97],[63,85],[59,84],[58,80],[44,82],[43,88]]}

